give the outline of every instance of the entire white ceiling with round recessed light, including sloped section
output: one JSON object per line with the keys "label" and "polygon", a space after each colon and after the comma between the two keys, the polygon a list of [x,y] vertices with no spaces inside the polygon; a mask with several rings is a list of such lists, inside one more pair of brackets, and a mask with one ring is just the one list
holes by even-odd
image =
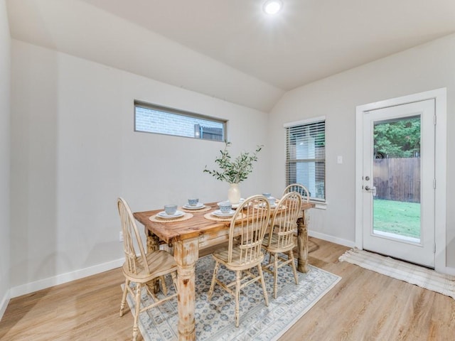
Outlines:
{"label": "entire white ceiling with round recessed light, including sloped section", "polygon": [[[264,111],[287,90],[455,32],[454,0],[283,0],[282,12],[274,17],[262,13],[263,2],[8,0],[7,4],[14,38]],[[100,44],[109,42],[117,50],[107,55]],[[139,48],[150,42],[153,49]],[[129,49],[129,57],[122,55],[124,49]],[[164,64],[171,58],[174,68],[151,70],[131,56],[131,49],[160,54]],[[122,58],[114,60],[112,53]],[[179,75],[174,75],[175,67]],[[208,75],[193,75],[187,68]],[[226,80],[228,74],[232,79]],[[214,89],[214,75],[228,84]],[[245,88],[232,90],[240,83]],[[245,91],[250,99],[240,98]]]}

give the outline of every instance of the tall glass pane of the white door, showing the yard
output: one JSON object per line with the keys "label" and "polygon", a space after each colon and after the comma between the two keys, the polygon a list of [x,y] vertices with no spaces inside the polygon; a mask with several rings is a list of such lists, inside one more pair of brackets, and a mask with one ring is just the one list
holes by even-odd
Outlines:
{"label": "tall glass pane of the white door, showing the yard", "polygon": [[374,234],[420,242],[420,141],[420,116],[374,124]]}

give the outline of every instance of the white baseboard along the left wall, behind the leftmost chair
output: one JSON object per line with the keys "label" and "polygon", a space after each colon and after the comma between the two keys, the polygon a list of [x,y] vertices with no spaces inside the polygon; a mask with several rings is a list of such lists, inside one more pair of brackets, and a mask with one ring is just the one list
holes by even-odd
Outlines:
{"label": "white baseboard along the left wall, behind the leftmost chair", "polygon": [[107,263],[98,264],[95,266],[90,266],[85,269],[67,272],[66,274],[44,278],[39,281],[23,284],[21,286],[15,286],[10,289],[9,294],[11,298],[26,295],[27,293],[33,293],[38,290],[50,288],[51,286],[58,286],[58,284],[68,283],[70,281],[75,281],[76,279],[100,274],[101,272],[118,268],[122,266],[123,263],[124,258],[108,261]]}

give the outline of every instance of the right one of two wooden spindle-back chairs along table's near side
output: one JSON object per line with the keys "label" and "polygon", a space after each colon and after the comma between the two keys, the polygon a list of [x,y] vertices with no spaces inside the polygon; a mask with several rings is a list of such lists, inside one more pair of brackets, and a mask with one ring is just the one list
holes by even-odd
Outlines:
{"label": "right one of two wooden spindle-back chairs along table's near side", "polygon": [[[271,232],[262,243],[269,253],[269,263],[262,266],[264,271],[273,274],[273,297],[277,298],[278,270],[282,266],[290,265],[294,272],[294,280],[299,284],[296,264],[294,262],[294,232],[297,229],[297,218],[301,210],[301,195],[297,192],[285,194],[277,204],[271,221]],[[284,256],[287,256],[285,258]],[[272,263],[273,258],[273,263]]]}

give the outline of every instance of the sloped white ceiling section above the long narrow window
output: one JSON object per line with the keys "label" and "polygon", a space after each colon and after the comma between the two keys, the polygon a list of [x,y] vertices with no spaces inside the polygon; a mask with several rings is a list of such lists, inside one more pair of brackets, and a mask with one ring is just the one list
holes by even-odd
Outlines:
{"label": "sloped white ceiling section above the long narrow window", "polygon": [[258,110],[269,111],[284,94],[277,87],[87,2],[9,1],[11,36]]}

